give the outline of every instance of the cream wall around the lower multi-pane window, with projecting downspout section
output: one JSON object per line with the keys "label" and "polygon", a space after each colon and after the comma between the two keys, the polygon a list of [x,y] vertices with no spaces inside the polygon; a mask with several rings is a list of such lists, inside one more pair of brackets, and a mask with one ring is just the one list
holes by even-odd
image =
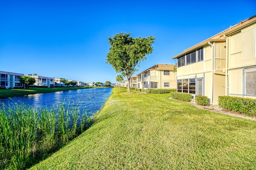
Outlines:
{"label": "cream wall around the lower multi-pane window, with projecting downspout section", "polygon": [[[204,46],[203,61],[177,68],[177,80],[195,80],[196,92],[190,94],[207,96],[212,104],[218,104],[218,96],[225,95],[225,72],[223,72],[223,68],[226,66],[226,48],[224,41],[213,42],[212,44],[212,46]],[[199,90],[199,81],[202,83],[201,90]],[[199,94],[199,91],[202,91],[202,94]],[[179,92],[178,88],[177,92]]]}

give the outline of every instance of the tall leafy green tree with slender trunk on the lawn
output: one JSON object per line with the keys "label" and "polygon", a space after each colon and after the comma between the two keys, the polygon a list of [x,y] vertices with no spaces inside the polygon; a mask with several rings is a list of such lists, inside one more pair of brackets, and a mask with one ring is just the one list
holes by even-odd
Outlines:
{"label": "tall leafy green tree with slender trunk on the lawn", "polygon": [[124,74],[128,80],[127,93],[130,93],[130,78],[139,70],[140,61],[146,60],[146,55],[153,52],[154,40],[152,36],[133,38],[130,37],[130,33],[118,33],[108,38],[110,51],[106,63],[109,63],[116,72]]}

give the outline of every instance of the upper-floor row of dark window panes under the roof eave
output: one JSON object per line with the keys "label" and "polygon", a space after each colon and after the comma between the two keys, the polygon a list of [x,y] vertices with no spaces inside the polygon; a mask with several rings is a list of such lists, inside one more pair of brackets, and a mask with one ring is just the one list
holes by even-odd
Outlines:
{"label": "upper-floor row of dark window panes under the roof eave", "polygon": [[177,59],[177,67],[200,62],[204,60],[204,47],[196,49]]}

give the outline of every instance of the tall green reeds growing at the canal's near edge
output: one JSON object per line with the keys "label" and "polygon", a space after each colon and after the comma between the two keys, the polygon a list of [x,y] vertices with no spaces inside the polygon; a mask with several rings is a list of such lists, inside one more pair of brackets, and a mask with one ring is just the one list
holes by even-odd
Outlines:
{"label": "tall green reeds growing at the canal's near edge", "polygon": [[85,131],[90,119],[80,107],[0,106],[0,169],[25,169]]}

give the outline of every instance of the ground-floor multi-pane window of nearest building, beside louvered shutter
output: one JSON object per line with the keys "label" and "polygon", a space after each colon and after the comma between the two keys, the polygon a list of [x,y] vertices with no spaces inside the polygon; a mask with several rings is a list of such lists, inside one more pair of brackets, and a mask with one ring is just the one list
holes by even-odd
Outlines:
{"label": "ground-floor multi-pane window of nearest building, beside louvered shutter", "polygon": [[183,79],[177,81],[177,92],[196,94],[196,79]]}

